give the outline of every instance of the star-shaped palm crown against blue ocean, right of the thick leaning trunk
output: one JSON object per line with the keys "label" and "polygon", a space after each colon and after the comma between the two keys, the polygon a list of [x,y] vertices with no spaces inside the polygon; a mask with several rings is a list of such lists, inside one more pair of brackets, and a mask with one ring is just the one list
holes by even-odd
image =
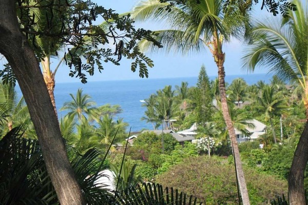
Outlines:
{"label": "star-shaped palm crown against blue ocean, right of the thick leaning trunk", "polygon": [[91,101],[91,97],[87,94],[82,93],[82,89],[78,89],[76,96],[69,94],[72,97],[72,101],[64,103],[60,111],[68,110],[68,115],[77,116],[78,120],[81,122],[82,118],[93,115],[97,112],[97,108],[93,107],[95,105],[94,101]]}

